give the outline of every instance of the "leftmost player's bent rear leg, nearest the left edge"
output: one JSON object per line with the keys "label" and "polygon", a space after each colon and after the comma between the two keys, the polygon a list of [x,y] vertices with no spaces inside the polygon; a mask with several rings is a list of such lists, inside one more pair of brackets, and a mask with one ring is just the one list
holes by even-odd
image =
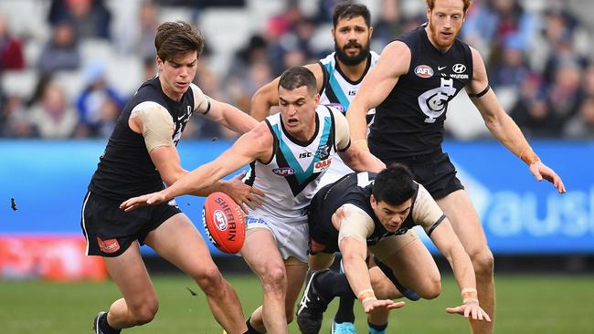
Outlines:
{"label": "leftmost player's bent rear leg, nearest the left edge", "polygon": [[158,300],[153,283],[146,272],[137,243],[122,255],[103,257],[111,279],[120,288],[122,298],[111,304],[107,323],[113,329],[127,329],[153,320]]}

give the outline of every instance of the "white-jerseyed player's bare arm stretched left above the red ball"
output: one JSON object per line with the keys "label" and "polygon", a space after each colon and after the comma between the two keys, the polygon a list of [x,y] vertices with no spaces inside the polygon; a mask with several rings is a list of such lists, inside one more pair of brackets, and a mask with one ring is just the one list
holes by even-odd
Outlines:
{"label": "white-jerseyed player's bare arm stretched left above the red ball", "polygon": [[154,205],[183,194],[201,195],[221,178],[255,160],[270,158],[272,135],[264,123],[244,134],[217,159],[187,173],[168,188],[152,195],[131,198],[120,205],[126,211],[138,206]]}

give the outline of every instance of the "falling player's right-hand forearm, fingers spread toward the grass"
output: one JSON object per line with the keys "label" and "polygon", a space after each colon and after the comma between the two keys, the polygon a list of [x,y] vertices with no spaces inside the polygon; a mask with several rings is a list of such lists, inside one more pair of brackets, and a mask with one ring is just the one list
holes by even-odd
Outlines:
{"label": "falling player's right-hand forearm, fingers spread toward the grass", "polygon": [[447,218],[433,230],[430,238],[440,253],[448,259],[458,287],[461,289],[462,305],[456,308],[446,308],[446,311],[451,314],[461,314],[465,318],[472,317],[474,320],[491,321],[487,312],[479,305],[471,258],[464,250]]}

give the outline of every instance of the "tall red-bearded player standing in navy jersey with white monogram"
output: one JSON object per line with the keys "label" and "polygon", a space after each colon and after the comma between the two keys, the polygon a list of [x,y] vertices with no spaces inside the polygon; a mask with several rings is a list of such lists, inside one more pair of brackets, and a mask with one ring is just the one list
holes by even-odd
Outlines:
{"label": "tall red-bearded player standing in navy jersey with white monogram", "polygon": [[[481,55],[457,39],[472,0],[426,1],[428,23],[384,48],[346,117],[354,145],[368,147],[387,164],[408,165],[436,199],[471,256],[481,306],[494,319],[493,254],[478,214],[441,150],[448,102],[466,89],[493,136],[526,163],[536,180],[553,183],[558,193],[565,193],[565,186],[501,107]],[[365,115],[372,108],[376,120],[366,138]],[[373,321],[386,321],[386,315],[376,316]],[[471,326],[473,333],[493,333],[493,322],[471,320]]]}

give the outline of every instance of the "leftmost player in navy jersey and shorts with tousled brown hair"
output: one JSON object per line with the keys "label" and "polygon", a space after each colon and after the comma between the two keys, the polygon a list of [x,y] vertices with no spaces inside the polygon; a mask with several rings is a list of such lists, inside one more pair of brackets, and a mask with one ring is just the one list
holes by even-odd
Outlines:
{"label": "leftmost player in navy jersey and shorts with tousled brown hair", "polygon": [[[140,253],[158,255],[192,277],[204,291],[217,322],[229,333],[247,330],[239,298],[221,276],[196,227],[175,201],[125,213],[122,200],[164,189],[187,173],[175,148],[190,117],[197,113],[240,133],[258,122],[226,103],[210,99],[192,83],[204,45],[185,22],[166,22],[154,38],[158,75],[126,104],[93,174],[82,205],[80,226],[87,255],[103,256],[122,298],[93,320],[96,333],[120,333],[153,320],[158,300]],[[204,194],[223,191],[239,204],[258,202],[238,179],[220,182]]]}

